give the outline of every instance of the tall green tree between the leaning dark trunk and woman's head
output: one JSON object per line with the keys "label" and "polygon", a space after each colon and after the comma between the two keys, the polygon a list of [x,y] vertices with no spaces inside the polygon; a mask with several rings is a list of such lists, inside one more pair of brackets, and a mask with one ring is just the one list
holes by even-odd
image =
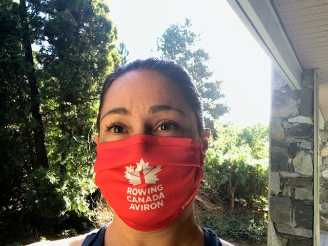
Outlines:
{"label": "tall green tree between the leaning dark trunk and woman's head", "polygon": [[[52,184],[65,203],[61,213],[89,211],[94,146],[88,135],[104,77],[118,63],[116,29],[104,1],[45,1],[42,49],[37,54]],[[46,42],[47,41],[47,42]],[[54,175],[55,174],[55,175]]]}

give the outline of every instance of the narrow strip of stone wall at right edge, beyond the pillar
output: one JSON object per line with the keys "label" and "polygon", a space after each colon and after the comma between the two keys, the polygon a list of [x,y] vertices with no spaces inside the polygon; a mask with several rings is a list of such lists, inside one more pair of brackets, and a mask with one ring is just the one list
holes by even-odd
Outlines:
{"label": "narrow strip of stone wall at right edge, beyond the pillar", "polygon": [[328,232],[328,129],[320,130],[320,230]]}

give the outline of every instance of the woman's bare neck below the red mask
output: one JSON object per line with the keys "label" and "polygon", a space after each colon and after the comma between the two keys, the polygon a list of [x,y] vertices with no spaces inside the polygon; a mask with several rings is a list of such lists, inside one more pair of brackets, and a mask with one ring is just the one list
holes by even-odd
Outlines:
{"label": "woman's bare neck below the red mask", "polygon": [[105,233],[105,246],[203,245],[204,236],[190,206],[174,223],[158,231],[140,232],[126,225],[115,213]]}

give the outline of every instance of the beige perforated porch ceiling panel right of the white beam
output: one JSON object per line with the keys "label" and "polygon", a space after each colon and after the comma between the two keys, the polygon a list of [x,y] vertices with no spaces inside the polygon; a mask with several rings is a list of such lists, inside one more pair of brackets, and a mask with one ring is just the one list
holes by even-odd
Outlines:
{"label": "beige perforated porch ceiling panel right of the white beam", "polygon": [[273,0],[273,3],[303,69],[319,69],[320,83],[327,84],[328,0]]}

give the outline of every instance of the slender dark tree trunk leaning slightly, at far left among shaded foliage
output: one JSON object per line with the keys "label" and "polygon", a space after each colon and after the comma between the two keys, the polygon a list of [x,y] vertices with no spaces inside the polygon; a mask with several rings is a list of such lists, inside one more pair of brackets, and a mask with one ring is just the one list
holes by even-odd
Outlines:
{"label": "slender dark tree trunk leaning slightly, at far left among shaded foliage", "polygon": [[19,17],[20,25],[23,31],[23,49],[25,50],[25,60],[31,65],[30,70],[27,72],[27,79],[30,86],[30,97],[31,97],[31,113],[32,117],[36,121],[36,126],[33,129],[34,132],[34,142],[35,142],[35,153],[37,163],[40,166],[48,166],[48,158],[45,144],[45,135],[43,131],[42,116],[40,114],[40,104],[37,100],[38,90],[37,90],[37,80],[34,70],[34,61],[31,48],[31,40],[29,34],[29,24],[27,20],[27,9],[25,0],[19,1]]}

